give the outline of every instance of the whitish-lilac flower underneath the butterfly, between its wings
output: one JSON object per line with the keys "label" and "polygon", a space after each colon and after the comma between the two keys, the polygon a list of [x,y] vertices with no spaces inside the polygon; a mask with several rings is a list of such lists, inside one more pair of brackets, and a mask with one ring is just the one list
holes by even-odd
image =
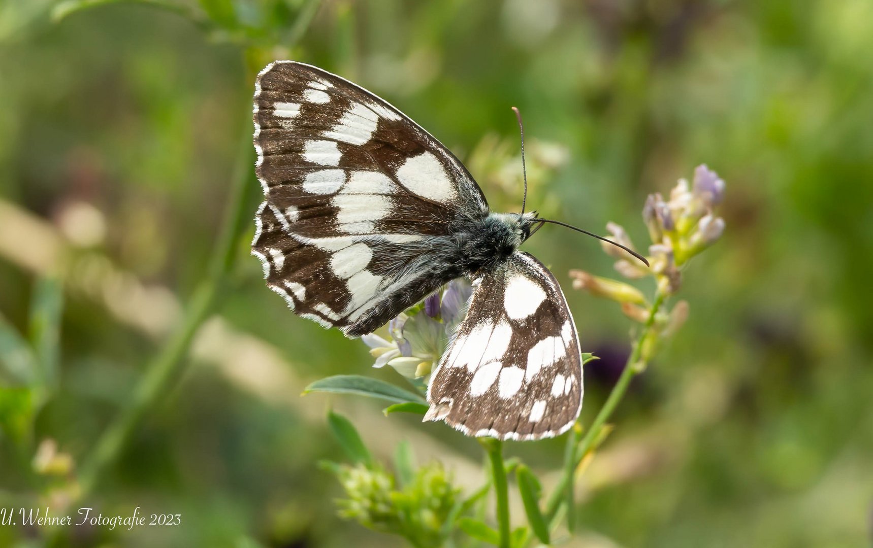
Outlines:
{"label": "whitish-lilac flower underneath the butterfly, between its wings", "polygon": [[409,379],[425,382],[439,363],[450,334],[464,319],[472,287],[464,278],[446,284],[442,291],[424,299],[388,324],[388,339],[375,333],[361,340],[370,347],[374,367],[392,366]]}

